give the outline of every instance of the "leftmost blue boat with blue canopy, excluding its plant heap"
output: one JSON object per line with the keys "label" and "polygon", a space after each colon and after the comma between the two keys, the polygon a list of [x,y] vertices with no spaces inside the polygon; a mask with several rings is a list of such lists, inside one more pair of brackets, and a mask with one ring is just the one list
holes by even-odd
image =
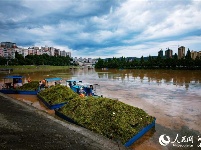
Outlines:
{"label": "leftmost blue boat with blue canopy, excluding its plant heap", "polygon": [[[39,88],[35,90],[20,90],[17,87],[23,86],[22,83],[23,76],[19,75],[9,75],[4,77],[4,85],[0,90],[1,93],[4,94],[25,94],[25,95],[37,95],[39,92]],[[6,80],[8,80],[6,82]],[[10,81],[12,80],[12,81]]]}

